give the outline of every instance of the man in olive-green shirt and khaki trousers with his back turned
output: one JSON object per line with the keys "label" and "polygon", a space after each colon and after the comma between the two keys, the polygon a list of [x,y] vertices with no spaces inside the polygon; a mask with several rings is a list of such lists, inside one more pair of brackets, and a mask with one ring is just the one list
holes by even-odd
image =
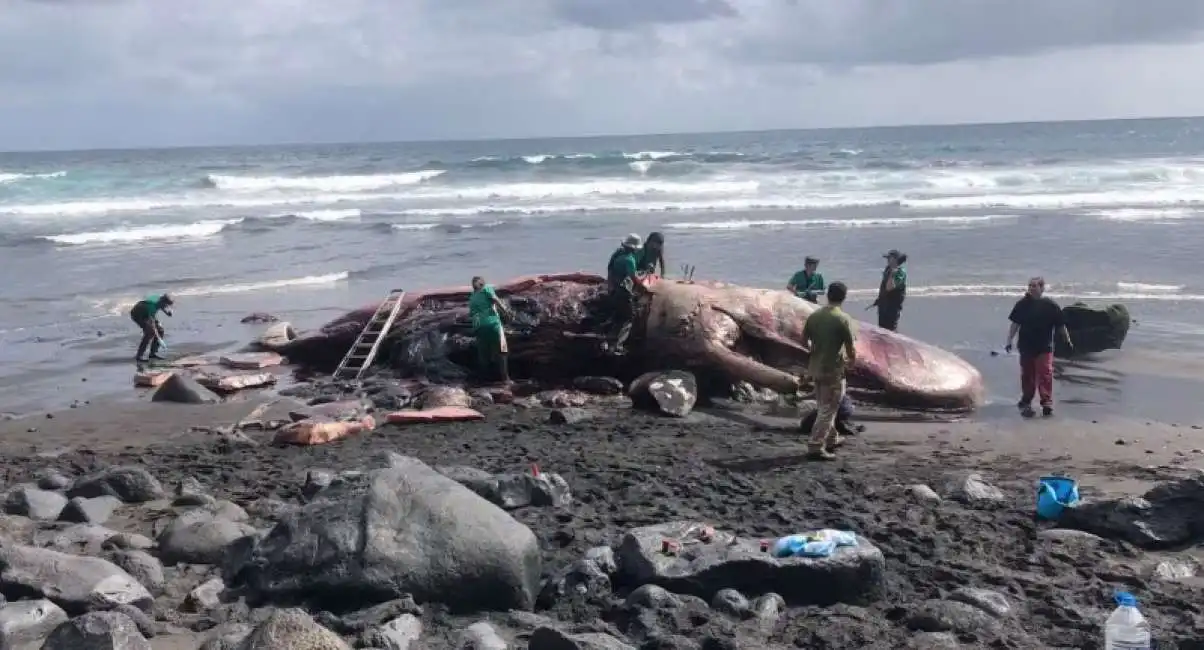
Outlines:
{"label": "man in olive-green shirt and khaki trousers with his back turned", "polygon": [[815,424],[807,443],[813,460],[832,460],[840,444],[836,418],[845,391],[845,372],[857,360],[857,335],[852,319],[842,309],[849,295],[843,282],[828,285],[828,303],[807,317],[803,343],[810,349],[808,374],[815,383]]}

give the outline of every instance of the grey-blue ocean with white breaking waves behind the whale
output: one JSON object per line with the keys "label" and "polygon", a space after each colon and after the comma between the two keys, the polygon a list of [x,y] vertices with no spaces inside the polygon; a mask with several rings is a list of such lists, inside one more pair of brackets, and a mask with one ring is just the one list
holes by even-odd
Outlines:
{"label": "grey-blue ocean with white breaking waves behind the whale", "polygon": [[0,410],[131,395],[146,294],[171,351],[314,326],[391,288],[603,272],[662,231],[671,272],[784,286],[805,255],[877,292],[909,256],[901,331],[948,347],[1011,413],[993,356],[1028,277],[1129,307],[1123,350],[1060,366],[1064,409],[1204,416],[1204,119],[0,154]]}

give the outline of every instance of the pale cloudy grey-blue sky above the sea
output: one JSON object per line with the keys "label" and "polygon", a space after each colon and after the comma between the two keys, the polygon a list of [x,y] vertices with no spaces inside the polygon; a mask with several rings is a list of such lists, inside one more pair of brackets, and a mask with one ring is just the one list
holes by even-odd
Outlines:
{"label": "pale cloudy grey-blue sky above the sea", "polygon": [[1200,0],[0,0],[0,150],[1204,114]]}

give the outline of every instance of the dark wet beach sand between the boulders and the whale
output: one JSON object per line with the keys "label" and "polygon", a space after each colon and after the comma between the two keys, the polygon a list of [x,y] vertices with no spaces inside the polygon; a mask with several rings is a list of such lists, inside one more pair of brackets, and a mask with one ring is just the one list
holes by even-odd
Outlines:
{"label": "dark wet beach sand between the boulders and the whale", "polygon": [[[1037,538],[1033,521],[1034,483],[1044,474],[1073,475],[1090,497],[1139,494],[1157,480],[1200,467],[1204,431],[1198,425],[1117,416],[867,422],[868,431],[852,438],[838,461],[814,463],[801,460],[803,441],[789,419],[708,409],[674,420],[595,409],[589,422],[550,425],[547,409],[496,406],[486,409],[483,422],[384,426],[321,447],[264,444],[230,453],[214,443],[209,430],[232,425],[267,401],[199,407],[94,403],[48,419],[0,422],[0,463],[10,485],[47,467],[78,475],[106,465],[141,465],[165,485],[193,477],[214,496],[240,504],[297,500],[307,469],[356,469],[382,450],[489,472],[538,463],[561,473],[574,495],[573,506],[563,510],[514,512],[541,540],[545,578],[586,549],[618,542],[630,527],[675,519],[703,519],[759,538],[810,527],[849,528],[886,554],[886,593],[875,604],[793,608],[771,637],[756,642],[718,613],[673,630],[698,644],[728,639],[736,645],[726,646],[737,648],[905,648],[919,638],[903,624],[907,613],[962,586],[998,591],[1016,609],[1003,632],[962,634],[966,646],[1102,648],[1102,624],[1117,589],[1141,599],[1159,648],[1196,648],[1192,643],[1204,640],[1196,632],[1204,624],[1196,605],[1199,586],[1152,574],[1157,561],[1174,554],[1141,552],[1112,540],[1090,549],[1052,549]],[[296,404],[276,401],[262,416],[282,415]],[[1003,490],[1004,504],[991,510],[950,502],[923,506],[899,489],[926,484],[943,492],[966,472],[980,473]],[[124,516],[122,525],[147,528],[150,515],[140,516]],[[202,575],[176,579],[200,583]],[[164,599],[163,610],[178,604]],[[609,608],[572,602],[543,614],[588,624],[608,620]],[[158,650],[193,648],[200,632],[213,625],[205,616],[165,618],[173,627],[154,639]],[[454,627],[480,618],[504,621],[504,615],[460,620],[427,608],[430,648],[453,648],[443,643],[450,643]]]}

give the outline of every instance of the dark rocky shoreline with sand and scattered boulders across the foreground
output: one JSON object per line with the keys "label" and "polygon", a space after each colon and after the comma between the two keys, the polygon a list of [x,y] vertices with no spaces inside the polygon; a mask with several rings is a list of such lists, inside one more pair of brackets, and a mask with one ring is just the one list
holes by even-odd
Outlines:
{"label": "dark rocky shoreline with sand and scattered boulders across the foreground", "polygon": [[[1157,474],[1170,486],[1144,504],[1088,498],[1062,522],[1085,530],[1056,528],[1033,516],[1049,462],[873,424],[805,463],[785,430],[571,408],[315,447],[271,444],[265,412],[170,443],[6,454],[0,646],[1090,649],[1123,589],[1159,648],[1204,648],[1198,474]],[[760,548],[816,528],[857,544]]]}

